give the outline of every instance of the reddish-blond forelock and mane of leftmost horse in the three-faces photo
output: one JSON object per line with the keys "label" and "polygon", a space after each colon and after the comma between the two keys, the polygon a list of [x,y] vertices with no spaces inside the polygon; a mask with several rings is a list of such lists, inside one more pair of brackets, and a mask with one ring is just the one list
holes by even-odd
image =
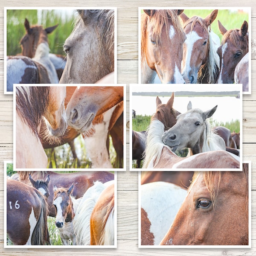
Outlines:
{"label": "reddish-blond forelock and mane of leftmost horse in the three-faces photo", "polygon": [[[184,37],[184,32],[182,26],[179,22],[179,18],[177,15],[177,10],[154,10],[154,14],[150,17],[150,19],[154,19],[154,27],[153,34],[156,35],[157,41],[160,39],[160,35],[163,29],[163,26],[168,23],[168,20],[172,20],[172,24],[174,26],[175,32],[180,38]],[[141,15],[141,61],[145,61],[145,49],[146,49],[146,35],[147,35],[147,27],[148,27],[148,15],[143,13]],[[169,33],[169,27],[166,26],[166,35]],[[169,38],[169,36],[167,37]]]}

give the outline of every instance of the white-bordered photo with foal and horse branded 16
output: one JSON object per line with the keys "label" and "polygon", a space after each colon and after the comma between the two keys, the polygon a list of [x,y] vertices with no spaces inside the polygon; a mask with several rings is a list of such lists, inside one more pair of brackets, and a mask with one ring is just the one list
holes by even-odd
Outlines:
{"label": "white-bordered photo with foal and horse branded 16", "polygon": [[115,172],[4,171],[4,247],[116,248]]}

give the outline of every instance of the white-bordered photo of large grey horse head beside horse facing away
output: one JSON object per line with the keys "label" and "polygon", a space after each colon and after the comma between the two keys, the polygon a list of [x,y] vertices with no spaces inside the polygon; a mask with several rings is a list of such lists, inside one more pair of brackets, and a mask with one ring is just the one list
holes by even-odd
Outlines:
{"label": "white-bordered photo of large grey horse head beside horse facing away", "polygon": [[116,84],[116,29],[116,8],[5,8],[4,93],[13,84]]}

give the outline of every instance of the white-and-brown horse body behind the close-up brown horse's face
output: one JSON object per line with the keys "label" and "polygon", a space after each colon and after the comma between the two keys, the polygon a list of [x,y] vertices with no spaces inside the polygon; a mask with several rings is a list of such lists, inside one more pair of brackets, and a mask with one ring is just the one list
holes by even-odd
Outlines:
{"label": "white-and-brown horse body behind the close-up brown horse's face", "polygon": [[158,245],[186,197],[186,189],[168,182],[141,185],[141,245]]}

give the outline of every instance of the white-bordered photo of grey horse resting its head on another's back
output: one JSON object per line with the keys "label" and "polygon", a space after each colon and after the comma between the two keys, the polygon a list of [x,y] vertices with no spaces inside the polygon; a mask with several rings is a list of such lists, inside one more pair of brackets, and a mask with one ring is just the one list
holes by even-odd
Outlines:
{"label": "white-bordered photo of grey horse resting its head on another's back", "polygon": [[241,170],[241,95],[241,84],[131,85],[130,170]]}

